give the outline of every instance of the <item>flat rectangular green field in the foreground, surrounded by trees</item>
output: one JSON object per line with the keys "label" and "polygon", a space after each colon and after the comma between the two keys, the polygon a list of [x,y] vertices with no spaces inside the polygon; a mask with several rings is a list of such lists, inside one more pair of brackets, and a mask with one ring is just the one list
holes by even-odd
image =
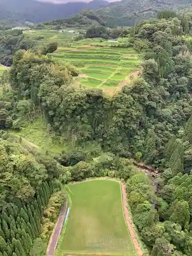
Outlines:
{"label": "flat rectangular green field in the foreground, surrounded by trees", "polygon": [[72,206],[56,255],[84,252],[135,256],[121,200],[120,183],[93,180],[69,185]]}

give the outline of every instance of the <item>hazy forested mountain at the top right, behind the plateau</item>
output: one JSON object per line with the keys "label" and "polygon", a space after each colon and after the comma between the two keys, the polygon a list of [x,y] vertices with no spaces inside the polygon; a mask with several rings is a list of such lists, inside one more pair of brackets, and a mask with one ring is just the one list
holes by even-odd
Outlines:
{"label": "hazy forested mountain at the top right, behind the plateau", "polygon": [[179,10],[192,0],[122,0],[97,10],[107,26],[133,26],[141,19],[155,17],[159,10]]}

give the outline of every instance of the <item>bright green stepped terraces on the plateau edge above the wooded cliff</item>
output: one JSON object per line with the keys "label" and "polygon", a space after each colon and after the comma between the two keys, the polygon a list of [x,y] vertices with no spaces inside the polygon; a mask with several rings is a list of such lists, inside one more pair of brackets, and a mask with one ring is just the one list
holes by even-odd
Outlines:
{"label": "bright green stepped terraces on the plateau edge above the wooded cliff", "polygon": [[90,88],[117,87],[138,70],[141,56],[134,49],[93,46],[97,42],[98,39],[73,42],[70,47],[59,47],[50,56],[76,66],[80,73],[78,83]]}

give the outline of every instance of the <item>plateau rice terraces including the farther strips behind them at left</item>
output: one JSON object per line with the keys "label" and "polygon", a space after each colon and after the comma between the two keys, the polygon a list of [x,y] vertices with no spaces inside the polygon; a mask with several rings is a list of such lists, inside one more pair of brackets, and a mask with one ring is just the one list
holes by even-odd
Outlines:
{"label": "plateau rice terraces including the farther strips behind them at left", "polygon": [[[78,86],[106,89],[105,92],[111,94],[114,89],[130,81],[130,75],[136,75],[142,59],[141,54],[134,49],[111,47],[111,42],[101,38],[74,41],[75,34],[54,30],[30,30],[25,31],[25,34],[32,38],[44,36],[39,42],[57,41],[58,49],[49,56],[57,61],[68,61],[77,67]],[[123,40],[118,38],[120,42]]]}

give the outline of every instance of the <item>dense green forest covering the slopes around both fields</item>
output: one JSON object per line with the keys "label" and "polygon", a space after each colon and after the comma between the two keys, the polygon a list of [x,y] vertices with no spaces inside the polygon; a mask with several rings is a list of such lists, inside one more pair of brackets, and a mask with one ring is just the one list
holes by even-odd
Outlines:
{"label": "dense green forest covering the slopes around both fields", "polygon": [[[73,66],[35,47],[15,48],[4,75],[12,90],[0,96],[0,255],[41,255],[35,248],[46,244],[65,201],[62,184],[100,176],[126,182],[146,255],[192,254],[191,33],[192,14],[168,10],[124,31],[144,59],[140,76],[113,97],[76,87]],[[22,129],[37,116],[75,146],[54,158],[24,150],[22,138],[15,141],[9,129]],[[94,148],[85,150],[86,143]],[[159,177],[152,182],[131,157],[158,167]]]}

